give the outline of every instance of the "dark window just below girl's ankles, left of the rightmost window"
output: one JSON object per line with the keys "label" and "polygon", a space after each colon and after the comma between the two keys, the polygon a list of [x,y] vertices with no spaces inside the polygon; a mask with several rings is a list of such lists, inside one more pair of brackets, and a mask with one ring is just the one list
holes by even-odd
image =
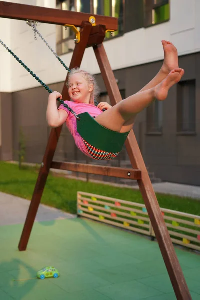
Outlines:
{"label": "dark window just below girl's ankles, left of the rightmost window", "polygon": [[154,100],[146,110],[146,132],[148,134],[162,133],[162,101]]}

